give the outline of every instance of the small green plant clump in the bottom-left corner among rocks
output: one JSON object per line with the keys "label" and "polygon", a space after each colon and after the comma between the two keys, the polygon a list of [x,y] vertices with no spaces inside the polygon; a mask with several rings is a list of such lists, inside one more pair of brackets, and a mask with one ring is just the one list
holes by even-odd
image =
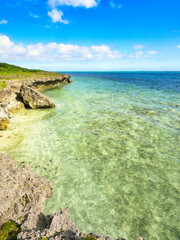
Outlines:
{"label": "small green plant clump in the bottom-left corner among rocks", "polygon": [[0,230],[0,240],[16,240],[20,227],[17,223],[9,221]]}

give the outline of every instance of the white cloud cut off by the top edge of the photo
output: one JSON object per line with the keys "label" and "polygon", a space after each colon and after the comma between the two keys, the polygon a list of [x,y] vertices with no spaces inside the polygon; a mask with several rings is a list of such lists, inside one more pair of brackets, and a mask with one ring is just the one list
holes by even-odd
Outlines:
{"label": "white cloud cut off by the top edge of the photo", "polygon": [[52,8],[62,5],[91,8],[96,7],[98,2],[99,0],[48,0],[48,4]]}

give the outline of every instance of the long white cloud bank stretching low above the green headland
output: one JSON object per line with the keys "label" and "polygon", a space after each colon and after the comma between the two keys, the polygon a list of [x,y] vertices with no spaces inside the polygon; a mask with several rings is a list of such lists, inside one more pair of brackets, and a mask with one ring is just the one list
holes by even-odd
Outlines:
{"label": "long white cloud bank stretching low above the green headland", "polygon": [[55,42],[23,45],[15,44],[6,35],[0,35],[0,61],[99,61],[122,57],[119,51],[112,50],[107,45],[87,47]]}

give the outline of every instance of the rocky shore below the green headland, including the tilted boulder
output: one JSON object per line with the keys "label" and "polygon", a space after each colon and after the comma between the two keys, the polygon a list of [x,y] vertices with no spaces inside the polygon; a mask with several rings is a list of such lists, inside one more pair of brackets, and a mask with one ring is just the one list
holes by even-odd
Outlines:
{"label": "rocky shore below the green headland, including the tilted boulder", "polygon": [[59,78],[46,76],[7,81],[7,87],[0,90],[0,130],[8,129],[13,113],[20,110],[55,107],[54,103],[37,90],[53,88],[71,82],[72,80],[68,75]]}

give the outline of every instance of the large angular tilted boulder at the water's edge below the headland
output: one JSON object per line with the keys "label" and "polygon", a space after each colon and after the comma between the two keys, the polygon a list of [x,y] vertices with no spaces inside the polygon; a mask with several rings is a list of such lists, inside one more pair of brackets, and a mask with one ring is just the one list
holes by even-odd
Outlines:
{"label": "large angular tilted boulder at the water's edge below the headland", "polygon": [[43,96],[38,91],[22,85],[20,89],[20,95],[24,104],[30,108],[51,108],[55,107],[55,104],[47,97]]}

